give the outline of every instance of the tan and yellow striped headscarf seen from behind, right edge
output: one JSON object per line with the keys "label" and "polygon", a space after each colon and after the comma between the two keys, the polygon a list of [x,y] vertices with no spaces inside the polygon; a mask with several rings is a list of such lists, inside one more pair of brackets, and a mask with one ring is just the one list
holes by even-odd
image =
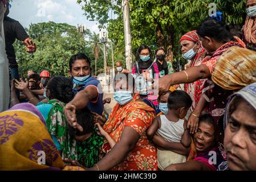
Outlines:
{"label": "tan and yellow striped headscarf seen from behind, right edge", "polygon": [[225,90],[239,90],[256,82],[256,54],[250,49],[233,46],[216,63],[212,80]]}

